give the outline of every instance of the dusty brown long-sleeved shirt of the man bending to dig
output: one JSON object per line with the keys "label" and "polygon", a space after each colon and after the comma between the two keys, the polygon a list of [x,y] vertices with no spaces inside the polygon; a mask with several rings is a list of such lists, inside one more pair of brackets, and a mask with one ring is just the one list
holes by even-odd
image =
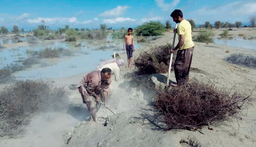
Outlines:
{"label": "dusty brown long-sleeved shirt of the man bending to dig", "polygon": [[111,78],[108,82],[102,82],[100,72],[101,71],[98,70],[92,71],[83,77],[80,86],[83,87],[82,90],[86,90],[84,93],[88,93],[89,96],[92,96],[93,94],[98,95],[101,90],[106,92],[109,91]]}

